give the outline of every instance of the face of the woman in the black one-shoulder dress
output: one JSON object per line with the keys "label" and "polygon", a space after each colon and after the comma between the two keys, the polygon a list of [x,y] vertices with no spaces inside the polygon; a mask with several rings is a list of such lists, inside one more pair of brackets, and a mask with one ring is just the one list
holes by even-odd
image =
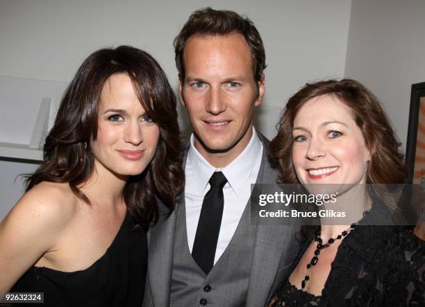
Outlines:
{"label": "face of the woman in the black one-shoulder dress", "polygon": [[97,139],[90,141],[94,163],[116,175],[138,175],[152,160],[158,125],[147,116],[126,73],[110,76],[101,91]]}

